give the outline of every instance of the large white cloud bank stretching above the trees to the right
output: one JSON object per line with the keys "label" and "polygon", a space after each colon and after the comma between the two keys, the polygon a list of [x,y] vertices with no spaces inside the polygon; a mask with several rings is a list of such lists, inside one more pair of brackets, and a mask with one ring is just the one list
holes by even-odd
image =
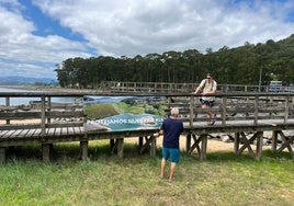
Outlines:
{"label": "large white cloud bank stretching above the trees to the right", "polygon": [[[281,39],[294,32],[285,23],[292,1],[112,0],[44,1],[38,5],[79,32],[101,55],[115,56]],[[233,2],[233,3],[231,3]]]}

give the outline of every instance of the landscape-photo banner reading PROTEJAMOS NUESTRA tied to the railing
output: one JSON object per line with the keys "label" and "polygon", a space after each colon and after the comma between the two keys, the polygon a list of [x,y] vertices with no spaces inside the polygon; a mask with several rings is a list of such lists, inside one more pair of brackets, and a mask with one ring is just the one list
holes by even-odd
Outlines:
{"label": "landscape-photo banner reading PROTEJAMOS NUESTRA tied to the railing", "polygon": [[165,96],[83,96],[84,130],[159,129],[166,116]]}

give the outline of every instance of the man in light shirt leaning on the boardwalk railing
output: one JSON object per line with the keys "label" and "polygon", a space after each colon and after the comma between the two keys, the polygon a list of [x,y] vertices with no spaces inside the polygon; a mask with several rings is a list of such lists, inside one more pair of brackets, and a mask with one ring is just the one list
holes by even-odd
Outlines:
{"label": "man in light shirt leaning on the boardwalk railing", "polygon": [[[211,73],[206,75],[206,79],[203,79],[196,90],[193,92],[194,94],[202,91],[202,98],[200,99],[200,102],[202,104],[202,108],[213,107],[215,103],[214,96],[207,96],[215,94],[216,92],[217,82],[213,79],[213,76]],[[212,112],[207,113],[207,116],[210,118],[208,125],[214,125],[216,119],[216,114],[213,114]]]}

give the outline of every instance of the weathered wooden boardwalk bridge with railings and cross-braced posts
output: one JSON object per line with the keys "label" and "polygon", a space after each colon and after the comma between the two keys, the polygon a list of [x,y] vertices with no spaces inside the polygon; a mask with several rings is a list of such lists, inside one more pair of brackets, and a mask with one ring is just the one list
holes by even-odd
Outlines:
{"label": "weathered wooden boardwalk bridge with railings and cross-braced posts", "polygon": [[[82,98],[89,93],[22,92],[0,93],[5,105],[0,106],[0,161],[5,161],[9,147],[41,145],[43,159],[50,159],[54,144],[79,141],[80,157],[88,158],[88,145],[91,140],[110,139],[111,151],[123,157],[124,138],[139,138],[139,149],[156,152],[157,129],[125,131],[86,131],[83,123]],[[292,93],[251,93],[234,92],[216,94],[216,105],[211,110],[217,114],[217,122],[207,126],[206,113],[199,103],[199,95],[189,93],[91,93],[94,95],[143,95],[166,96],[169,107],[180,108],[180,118],[184,122],[186,136],[185,151],[196,152],[201,160],[206,159],[210,136],[219,133],[234,134],[236,154],[245,150],[260,159],[263,146],[263,133],[272,131],[272,150],[287,150],[293,153],[294,135],[285,130],[294,129],[294,94]],[[27,105],[10,105],[12,99],[36,98]],[[54,98],[75,98],[76,103],[55,103]],[[27,123],[29,121],[29,123]]]}

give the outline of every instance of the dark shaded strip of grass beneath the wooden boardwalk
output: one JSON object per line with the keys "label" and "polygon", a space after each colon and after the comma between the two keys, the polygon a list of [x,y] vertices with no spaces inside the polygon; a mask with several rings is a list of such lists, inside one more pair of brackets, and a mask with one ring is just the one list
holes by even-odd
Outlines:
{"label": "dark shaded strip of grass beneath the wooden boardwalk", "polygon": [[[139,147],[136,144],[125,144],[124,145],[124,160],[129,160],[132,162],[140,162],[146,159],[150,159],[149,151],[144,153],[139,152]],[[42,149],[39,146],[22,146],[22,147],[11,147],[7,150],[8,161],[13,160],[39,160],[42,161]],[[50,159],[53,162],[58,162],[63,160],[67,161],[79,161],[80,160],[80,148],[79,144],[57,144],[52,148]],[[156,159],[161,159],[161,148],[156,150]],[[271,150],[262,151],[262,160],[276,160],[276,159],[289,159],[292,160],[293,157],[290,152],[274,152]],[[109,141],[89,144],[89,160],[91,161],[122,161],[117,157],[115,151],[111,151]],[[183,161],[200,161],[197,153],[186,154],[181,151],[181,160]],[[216,151],[207,152],[206,160],[208,162],[225,162],[225,161],[256,161],[255,158],[249,156],[247,152],[242,154],[235,154],[231,151]]]}

